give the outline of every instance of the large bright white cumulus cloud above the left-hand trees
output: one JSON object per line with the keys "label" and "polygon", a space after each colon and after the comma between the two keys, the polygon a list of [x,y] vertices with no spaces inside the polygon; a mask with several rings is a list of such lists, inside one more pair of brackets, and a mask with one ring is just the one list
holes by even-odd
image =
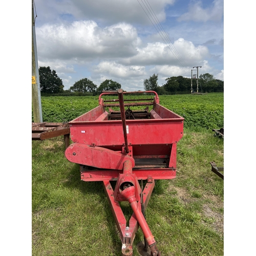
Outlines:
{"label": "large bright white cumulus cloud above the left-hand trees", "polygon": [[97,57],[127,57],[140,44],[136,29],[119,23],[103,29],[91,20],[71,24],[43,25],[37,29],[39,57],[72,59],[75,62]]}

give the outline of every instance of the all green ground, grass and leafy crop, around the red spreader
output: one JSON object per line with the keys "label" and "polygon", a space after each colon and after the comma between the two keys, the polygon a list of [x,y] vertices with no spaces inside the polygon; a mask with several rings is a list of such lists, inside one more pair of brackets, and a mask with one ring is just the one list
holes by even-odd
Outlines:
{"label": "all green ground, grass and leafy crop, around the red spreader", "polygon": [[[185,118],[177,144],[177,176],[158,180],[145,210],[162,256],[224,254],[224,95],[160,95],[160,104]],[[42,97],[43,120],[67,122],[98,105],[98,97]],[[33,121],[33,113],[32,113]],[[32,255],[122,256],[121,241],[101,182],[80,180],[65,157],[63,136],[32,141]],[[123,202],[125,203],[125,202]],[[122,204],[126,219],[132,214]],[[144,241],[141,229],[133,243]]]}

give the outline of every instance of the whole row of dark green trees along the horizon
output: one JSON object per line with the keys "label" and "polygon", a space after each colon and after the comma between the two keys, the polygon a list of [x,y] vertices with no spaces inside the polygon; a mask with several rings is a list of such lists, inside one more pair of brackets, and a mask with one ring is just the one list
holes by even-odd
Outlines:
{"label": "whole row of dark green trees along the horizon", "polygon": [[[143,82],[145,91],[156,91],[159,95],[191,93],[191,78],[172,76],[165,79],[166,83],[159,86],[158,74],[153,74]],[[102,91],[117,91],[121,89],[119,82],[106,79],[99,87],[88,78],[76,81],[68,90],[64,90],[62,80],[55,70],[48,67],[39,67],[39,82],[42,96],[48,95],[99,95]],[[193,92],[197,92],[197,79],[192,79]],[[213,75],[205,73],[198,79],[198,92],[224,92],[224,81],[215,79]]]}

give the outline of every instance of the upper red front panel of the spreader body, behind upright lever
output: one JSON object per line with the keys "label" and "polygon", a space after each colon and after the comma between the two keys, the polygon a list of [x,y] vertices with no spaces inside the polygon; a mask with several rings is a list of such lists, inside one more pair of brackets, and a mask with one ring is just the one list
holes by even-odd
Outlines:
{"label": "upper red front panel of the spreader body, behind upright lever", "polygon": [[[127,141],[136,144],[167,144],[178,142],[183,133],[183,120],[126,120]],[[77,143],[97,146],[124,143],[121,120],[70,122],[71,139]]]}

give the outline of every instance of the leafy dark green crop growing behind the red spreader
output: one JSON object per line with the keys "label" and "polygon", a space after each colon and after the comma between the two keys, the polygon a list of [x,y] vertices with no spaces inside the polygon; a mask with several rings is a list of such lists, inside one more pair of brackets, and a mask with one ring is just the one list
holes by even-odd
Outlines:
{"label": "leafy dark green crop growing behind the red spreader", "polygon": [[[125,97],[134,99],[143,96],[128,95]],[[159,99],[160,104],[165,108],[185,118],[184,127],[220,129],[224,126],[223,93],[160,95]],[[67,122],[98,106],[98,96],[41,97],[41,105],[44,121]]]}

